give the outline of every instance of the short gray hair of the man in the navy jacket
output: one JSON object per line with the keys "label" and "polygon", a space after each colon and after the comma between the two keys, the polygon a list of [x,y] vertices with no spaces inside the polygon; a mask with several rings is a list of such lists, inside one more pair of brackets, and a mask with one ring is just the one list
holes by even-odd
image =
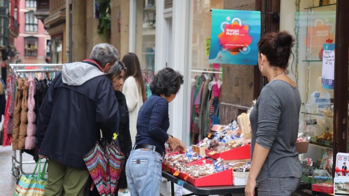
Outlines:
{"label": "short gray hair of the man in the navy jacket", "polygon": [[95,60],[101,67],[105,67],[108,62],[113,65],[119,58],[117,49],[107,43],[95,45],[90,54],[90,59]]}

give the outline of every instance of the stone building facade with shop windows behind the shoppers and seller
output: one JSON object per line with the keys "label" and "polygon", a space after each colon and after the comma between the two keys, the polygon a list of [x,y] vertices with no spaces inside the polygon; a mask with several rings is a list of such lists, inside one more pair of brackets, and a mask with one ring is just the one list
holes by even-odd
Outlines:
{"label": "stone building facade with shop windows behind the shoppers and seller", "polygon": [[[94,0],[40,0],[49,3],[45,26],[57,43],[52,51],[62,51],[59,60],[79,61],[89,56],[92,47],[101,42],[114,45],[121,58],[134,52],[149,78],[164,67],[184,75],[185,82],[170,105],[169,133],[187,145],[206,136],[193,134],[191,113],[192,87],[207,71],[217,73],[222,83],[216,116],[228,124],[253,105],[266,84],[258,66],[208,63],[207,40],[211,34],[211,9],[260,11],[261,35],[287,30],[295,36],[294,59],[289,62],[289,76],[301,93],[300,131],[311,134],[311,149],[304,156],[322,158],[323,151],[348,150],[348,49],[349,9],[347,0],[110,0],[108,9],[99,10]],[[44,9],[43,9],[44,10]],[[68,12],[67,12],[68,10]],[[42,12],[45,13],[45,12]],[[100,30],[101,16],[110,20]],[[317,33],[317,31],[321,31]],[[309,34],[314,32],[313,34]],[[316,40],[309,37],[316,38]],[[338,39],[340,38],[340,39]],[[323,44],[335,44],[334,88],[321,86]],[[209,45],[209,44],[208,44]],[[54,59],[54,58],[53,58]],[[216,77],[216,76],[215,76]],[[323,95],[319,104],[317,95]],[[313,99],[314,98],[314,99]],[[311,101],[314,103],[311,103]],[[321,113],[325,112],[325,114]],[[307,120],[317,119],[308,126]],[[201,127],[202,128],[202,127]],[[318,142],[328,132],[332,140]]]}

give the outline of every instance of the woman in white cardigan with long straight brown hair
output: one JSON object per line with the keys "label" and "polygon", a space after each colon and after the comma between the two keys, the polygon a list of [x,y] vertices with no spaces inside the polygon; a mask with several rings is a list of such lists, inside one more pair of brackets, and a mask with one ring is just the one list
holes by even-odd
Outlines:
{"label": "woman in white cardigan with long straight brown hair", "polygon": [[133,145],[136,141],[138,111],[146,99],[145,84],[142,77],[141,65],[136,54],[127,53],[122,62],[127,68],[122,92],[126,97],[129,112],[129,129]]}

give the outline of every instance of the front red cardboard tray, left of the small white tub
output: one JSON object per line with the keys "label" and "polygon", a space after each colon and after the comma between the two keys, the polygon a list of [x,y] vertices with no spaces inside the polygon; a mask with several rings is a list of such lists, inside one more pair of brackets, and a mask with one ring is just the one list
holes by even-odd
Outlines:
{"label": "front red cardboard tray, left of the small white tub", "polygon": [[[203,159],[194,161],[187,165],[204,165],[206,163],[212,163],[212,161]],[[194,179],[188,175],[185,175],[184,180],[188,181],[190,184],[201,187],[201,186],[227,186],[233,184],[233,170],[228,169],[225,171],[221,171],[212,175],[204,176],[201,178]]]}

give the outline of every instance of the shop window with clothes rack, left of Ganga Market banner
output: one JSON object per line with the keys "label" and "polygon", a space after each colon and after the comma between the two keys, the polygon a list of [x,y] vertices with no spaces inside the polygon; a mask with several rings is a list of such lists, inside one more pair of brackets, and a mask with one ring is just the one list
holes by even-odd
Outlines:
{"label": "shop window with clothes rack, left of Ganga Market banner", "polygon": [[[211,96],[212,82],[221,84],[222,66],[208,63],[208,52],[211,37],[210,9],[223,9],[224,0],[193,0],[191,32],[191,82],[190,91],[190,144],[197,144],[211,131],[213,124],[220,124],[219,94]],[[207,49],[208,47],[208,49]],[[220,85],[218,85],[220,86]],[[201,90],[200,90],[201,89]],[[220,87],[219,87],[220,89]],[[212,99],[212,100],[211,100]],[[210,102],[211,101],[211,102]],[[209,108],[213,108],[210,112]],[[188,121],[188,120],[187,120]]]}

